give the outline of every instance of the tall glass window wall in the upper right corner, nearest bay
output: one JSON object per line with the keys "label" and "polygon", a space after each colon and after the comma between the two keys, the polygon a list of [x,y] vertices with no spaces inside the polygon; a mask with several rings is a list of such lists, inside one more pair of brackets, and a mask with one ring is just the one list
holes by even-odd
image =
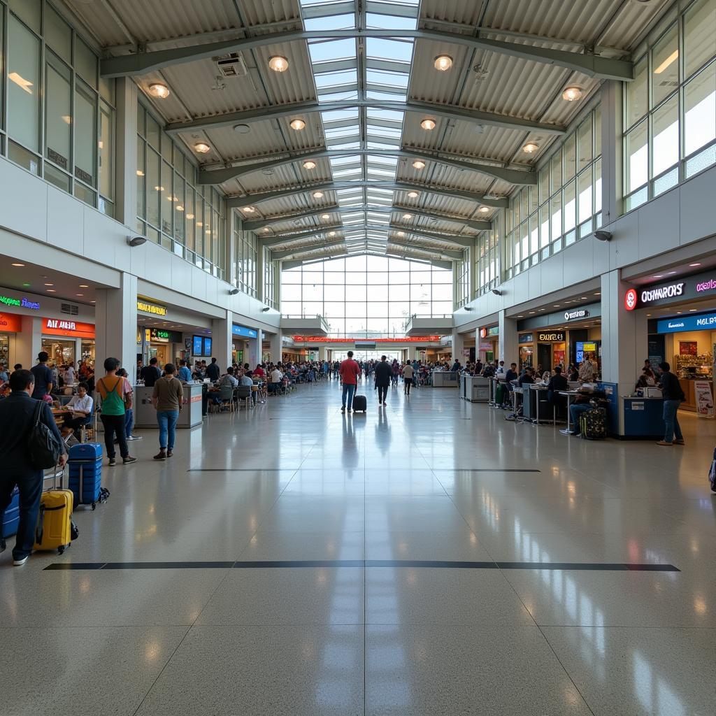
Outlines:
{"label": "tall glass window wall in the upper right corner, nearest bay", "polygon": [[624,211],[716,163],[716,0],[681,6],[624,83]]}

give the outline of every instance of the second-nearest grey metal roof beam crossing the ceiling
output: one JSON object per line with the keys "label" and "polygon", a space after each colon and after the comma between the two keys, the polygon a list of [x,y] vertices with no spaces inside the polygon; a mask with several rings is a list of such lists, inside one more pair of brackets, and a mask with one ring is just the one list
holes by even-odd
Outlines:
{"label": "second-nearest grey metal roof beam crossing the ceiling", "polygon": [[211,117],[196,117],[188,122],[170,122],[165,127],[169,134],[179,132],[196,132],[198,130],[218,129],[219,127],[233,127],[251,122],[275,120],[280,117],[293,117],[312,112],[330,112],[332,110],[350,110],[354,107],[368,107],[376,110],[393,110],[395,112],[428,113],[435,117],[446,117],[471,122],[475,125],[490,127],[505,127],[518,131],[537,131],[543,134],[563,135],[566,128],[561,125],[551,125],[548,122],[525,120],[521,117],[498,115],[495,112],[480,112],[457,105],[437,105],[432,102],[420,100],[407,100],[407,102],[380,102],[378,100],[342,100],[339,102],[296,102],[291,105],[278,105],[274,107],[260,107],[256,110],[243,110],[241,112],[227,112],[226,114]]}

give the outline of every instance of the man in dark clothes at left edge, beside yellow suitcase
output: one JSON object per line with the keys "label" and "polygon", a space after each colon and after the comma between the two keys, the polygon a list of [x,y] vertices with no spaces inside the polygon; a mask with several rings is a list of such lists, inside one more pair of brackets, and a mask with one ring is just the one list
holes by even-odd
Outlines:
{"label": "man in dark clothes at left edge, beside yellow suitcase", "polygon": [[[20,492],[20,521],[12,551],[13,564],[22,566],[32,553],[35,543],[35,526],[42,495],[42,470],[30,463],[27,451],[27,438],[34,425],[37,400],[32,399],[35,377],[29,370],[16,370],[9,379],[11,393],[0,400],[0,517],[12,500],[17,486]],[[57,430],[49,405],[42,401],[40,422],[52,432],[59,445],[64,445]],[[67,453],[59,456],[59,465],[64,467]],[[1,522],[1,520],[0,520]],[[5,549],[5,541],[0,533],[0,552]]]}

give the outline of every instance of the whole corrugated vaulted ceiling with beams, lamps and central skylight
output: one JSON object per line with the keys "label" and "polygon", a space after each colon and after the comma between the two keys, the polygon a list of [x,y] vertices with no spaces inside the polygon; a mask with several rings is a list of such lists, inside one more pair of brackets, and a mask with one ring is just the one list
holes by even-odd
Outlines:
{"label": "whole corrugated vaulted ceiling with beams, lamps and central skylight", "polygon": [[[282,258],[445,261],[536,183],[601,82],[632,78],[631,50],[668,2],[64,4],[100,43],[102,74],[132,77],[200,182]],[[230,57],[226,77],[217,59]],[[570,87],[578,100],[563,98]]]}

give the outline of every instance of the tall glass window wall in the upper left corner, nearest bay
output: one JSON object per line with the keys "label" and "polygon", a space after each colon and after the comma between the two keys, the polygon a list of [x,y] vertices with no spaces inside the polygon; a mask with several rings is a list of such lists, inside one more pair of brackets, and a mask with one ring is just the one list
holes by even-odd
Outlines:
{"label": "tall glass window wall in the upper left corner, nearest bay", "polygon": [[2,155],[114,216],[114,80],[100,79],[97,54],[52,3],[9,0],[7,7],[5,14],[0,0]]}

